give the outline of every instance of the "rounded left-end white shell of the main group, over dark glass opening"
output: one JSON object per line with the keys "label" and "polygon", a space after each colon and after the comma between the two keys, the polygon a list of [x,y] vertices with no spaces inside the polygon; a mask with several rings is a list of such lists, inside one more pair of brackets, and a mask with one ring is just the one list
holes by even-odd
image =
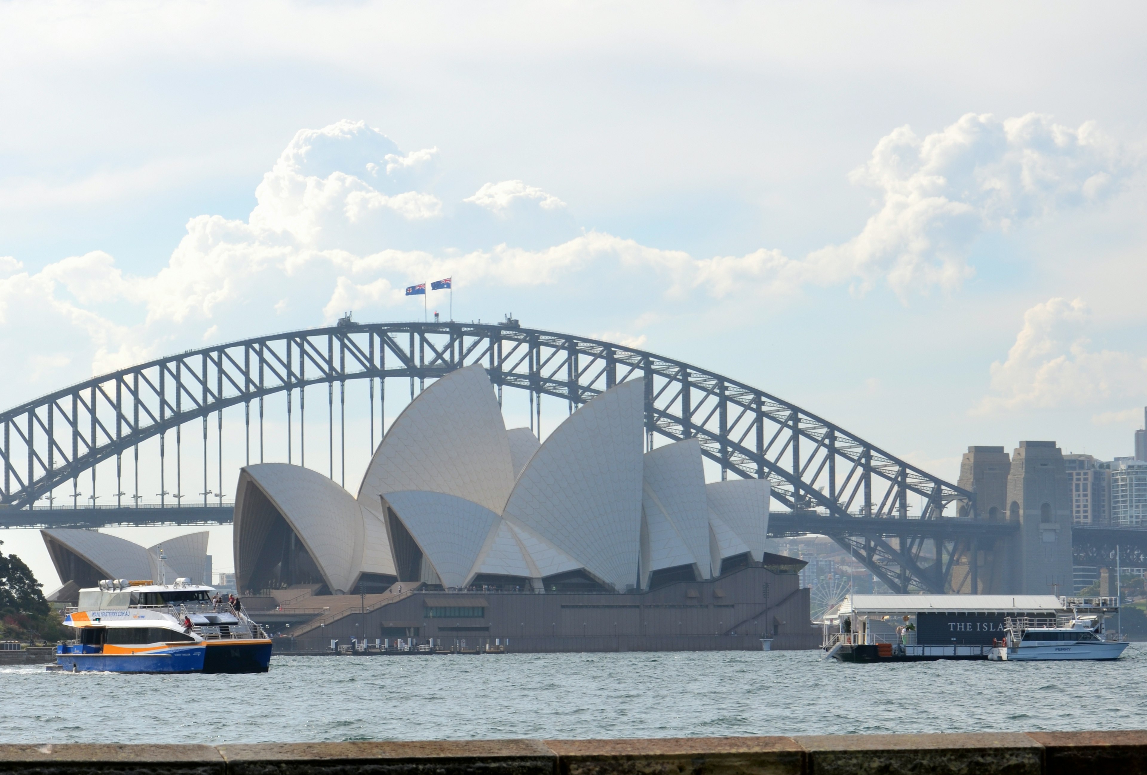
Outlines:
{"label": "rounded left-end white shell of the main group, over dark glass opening", "polygon": [[[357,547],[362,542],[362,512],[350,493],[326,476],[302,465],[259,463],[240,470],[235,496],[235,565],[242,585],[248,581],[255,553],[263,540],[244,501],[247,484],[257,486],[282,515],[314,559],[331,592],[348,592],[358,580]],[[253,539],[253,540],[252,540]],[[251,553],[251,554],[248,554]],[[241,587],[242,588],[242,587]]]}

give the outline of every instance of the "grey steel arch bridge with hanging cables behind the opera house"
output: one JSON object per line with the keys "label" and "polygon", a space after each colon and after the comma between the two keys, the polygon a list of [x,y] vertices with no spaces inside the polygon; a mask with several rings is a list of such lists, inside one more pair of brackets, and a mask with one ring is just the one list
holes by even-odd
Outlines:
{"label": "grey steel arch bridge with hanging cables behind the opera house", "polygon": [[[368,415],[373,451],[384,431],[388,389],[393,408],[396,384],[399,400],[412,400],[427,381],[473,363],[486,368],[499,401],[506,389],[528,394],[537,429],[544,398],[547,413],[572,412],[619,382],[643,377],[648,448],[656,437],[697,438],[723,478],[768,479],[774,503],[783,507],[770,515],[773,537],[828,535],[896,592],[951,592],[953,565],[969,547],[991,546],[1017,529],[978,514],[974,493],[697,366],[510,319],[358,323],[349,315],[331,327],[161,358],[0,413],[0,527],[227,524],[232,508],[224,490],[234,477],[225,475],[225,457],[305,465],[306,398],[313,420],[317,393],[326,415],[326,438],[319,439],[325,472],[345,486],[348,383],[367,383],[354,394],[369,402],[368,412],[359,404],[352,414]],[[268,445],[272,424],[286,432]],[[311,437],[313,465],[313,428]],[[186,475],[185,459],[192,462]],[[1100,564],[1116,546],[1124,565],[1147,554],[1147,531],[1071,532],[1077,564]]]}

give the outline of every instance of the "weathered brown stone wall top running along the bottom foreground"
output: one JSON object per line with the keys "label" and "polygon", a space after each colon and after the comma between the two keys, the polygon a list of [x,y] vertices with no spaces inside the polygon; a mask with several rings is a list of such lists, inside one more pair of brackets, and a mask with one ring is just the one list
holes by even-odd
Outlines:
{"label": "weathered brown stone wall top running along the bottom foreground", "polygon": [[604,741],[0,745],[0,773],[88,775],[1147,774],[1147,730]]}

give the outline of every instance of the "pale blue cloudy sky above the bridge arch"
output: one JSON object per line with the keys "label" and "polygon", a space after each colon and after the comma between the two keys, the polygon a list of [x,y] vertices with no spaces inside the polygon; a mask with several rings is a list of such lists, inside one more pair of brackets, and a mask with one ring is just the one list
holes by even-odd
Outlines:
{"label": "pale blue cloudy sky above the bridge arch", "polygon": [[0,405],[452,276],[458,320],[697,363],[949,479],[1132,454],[1145,16],[0,3]]}

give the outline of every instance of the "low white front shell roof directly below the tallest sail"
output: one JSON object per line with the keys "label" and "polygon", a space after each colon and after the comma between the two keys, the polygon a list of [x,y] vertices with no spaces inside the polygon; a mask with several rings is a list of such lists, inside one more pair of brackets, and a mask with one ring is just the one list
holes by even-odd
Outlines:
{"label": "low white front shell roof directly below the tallest sail", "polygon": [[384,498],[445,587],[466,585],[487,537],[501,522],[490,509],[454,495],[407,491]]}

